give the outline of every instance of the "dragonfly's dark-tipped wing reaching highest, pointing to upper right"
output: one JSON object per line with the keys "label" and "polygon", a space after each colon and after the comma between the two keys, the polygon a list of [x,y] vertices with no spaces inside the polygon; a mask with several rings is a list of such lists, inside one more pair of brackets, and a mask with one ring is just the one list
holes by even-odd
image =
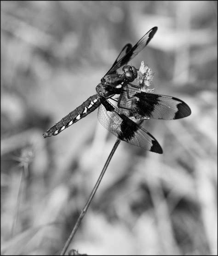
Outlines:
{"label": "dragonfly's dark-tipped wing reaching highest, pointing to upper right", "polygon": [[151,41],[156,31],[157,27],[150,29],[128,52],[126,52],[126,55],[120,58],[120,60],[111,67],[107,74],[111,74],[115,70],[127,64],[132,58],[141,52],[143,48],[146,47],[146,45],[149,43],[149,41]]}

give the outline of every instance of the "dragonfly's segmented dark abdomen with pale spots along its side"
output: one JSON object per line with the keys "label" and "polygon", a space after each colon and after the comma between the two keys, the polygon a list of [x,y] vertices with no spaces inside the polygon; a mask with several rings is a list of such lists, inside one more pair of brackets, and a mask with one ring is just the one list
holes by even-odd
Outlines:
{"label": "dragonfly's segmented dark abdomen with pale spots along its side", "polygon": [[57,122],[54,126],[42,134],[43,137],[46,138],[59,134],[71,124],[79,121],[81,118],[87,116],[89,113],[97,109],[99,105],[101,105],[101,102],[98,94],[92,95],[74,111],[70,112],[67,116],[64,116],[61,121]]}

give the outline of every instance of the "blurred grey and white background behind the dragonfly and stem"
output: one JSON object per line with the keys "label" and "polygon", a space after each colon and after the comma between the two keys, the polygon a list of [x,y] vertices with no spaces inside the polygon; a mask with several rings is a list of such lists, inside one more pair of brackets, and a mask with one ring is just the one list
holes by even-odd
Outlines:
{"label": "blurred grey and white background behind the dragonfly and stem", "polygon": [[97,111],[42,133],[154,26],[130,64],[192,114],[144,122],[162,155],[120,143],[69,249],[217,254],[217,1],[1,1],[2,254],[59,254],[116,137]]}

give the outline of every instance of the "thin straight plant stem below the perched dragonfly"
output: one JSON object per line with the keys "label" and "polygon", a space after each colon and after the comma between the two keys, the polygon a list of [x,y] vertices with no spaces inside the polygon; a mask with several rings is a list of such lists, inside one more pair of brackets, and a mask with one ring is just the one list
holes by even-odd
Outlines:
{"label": "thin straight plant stem below the perched dragonfly", "polygon": [[103,167],[103,169],[102,169],[102,171],[101,171],[101,174],[100,174],[100,176],[98,177],[98,180],[97,180],[97,182],[96,182],[94,188],[92,189],[92,192],[91,192],[91,194],[90,194],[90,196],[89,196],[89,198],[88,198],[88,200],[87,200],[87,202],[86,202],[86,205],[85,205],[84,208],[81,210],[80,216],[79,216],[79,218],[77,219],[76,224],[75,224],[75,226],[74,226],[72,232],[71,232],[70,235],[69,235],[69,238],[67,239],[66,243],[64,244],[63,249],[62,249],[60,255],[65,255],[66,250],[68,249],[70,242],[72,241],[72,239],[73,239],[73,237],[74,237],[74,235],[75,235],[75,233],[76,233],[78,227],[80,226],[80,223],[81,223],[83,217],[85,216],[86,211],[87,211],[89,205],[90,205],[91,202],[92,202],[92,199],[93,199],[93,197],[94,197],[94,195],[95,195],[95,193],[96,193],[96,191],[97,191],[97,189],[98,189],[98,186],[99,186],[99,184],[100,184],[100,182],[101,182],[101,180],[102,180],[102,178],[103,178],[103,175],[104,175],[106,169],[108,168],[108,165],[109,165],[109,163],[110,163],[110,160],[111,160],[111,158],[113,157],[113,155],[114,155],[114,153],[115,153],[115,151],[116,151],[116,149],[117,149],[117,147],[118,147],[119,144],[120,144],[120,139],[117,139],[116,142],[115,142],[115,145],[113,146],[113,148],[112,148],[112,150],[111,150],[111,152],[110,152],[110,154],[109,154],[109,157],[108,157],[106,163],[104,164],[104,167]]}

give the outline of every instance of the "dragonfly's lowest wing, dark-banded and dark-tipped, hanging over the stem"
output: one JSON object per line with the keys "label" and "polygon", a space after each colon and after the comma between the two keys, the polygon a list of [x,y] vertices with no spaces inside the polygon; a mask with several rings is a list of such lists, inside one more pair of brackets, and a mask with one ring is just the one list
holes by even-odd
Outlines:
{"label": "dragonfly's lowest wing, dark-banded and dark-tipped, hanging over the stem", "polygon": [[122,114],[107,99],[101,99],[101,103],[102,105],[98,109],[98,120],[104,128],[120,140],[145,150],[162,154],[161,146],[148,131]]}

